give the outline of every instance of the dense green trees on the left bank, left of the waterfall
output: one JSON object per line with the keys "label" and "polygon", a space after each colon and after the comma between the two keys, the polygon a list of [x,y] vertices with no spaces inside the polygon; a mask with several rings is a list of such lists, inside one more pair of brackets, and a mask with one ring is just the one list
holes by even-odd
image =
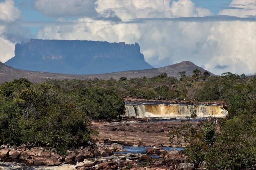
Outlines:
{"label": "dense green trees on the left bank, left of the waterfall", "polygon": [[76,80],[32,84],[20,78],[0,85],[0,144],[30,142],[63,154],[87,145],[96,133],[88,127],[91,120],[124,113],[124,101],[110,89]]}

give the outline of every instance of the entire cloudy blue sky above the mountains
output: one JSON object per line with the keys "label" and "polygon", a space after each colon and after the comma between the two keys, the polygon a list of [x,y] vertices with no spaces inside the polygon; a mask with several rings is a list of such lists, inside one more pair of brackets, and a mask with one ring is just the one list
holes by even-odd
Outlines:
{"label": "entire cloudy blue sky above the mountains", "polygon": [[0,0],[0,61],[26,38],[138,42],[145,61],[256,73],[256,0]]}

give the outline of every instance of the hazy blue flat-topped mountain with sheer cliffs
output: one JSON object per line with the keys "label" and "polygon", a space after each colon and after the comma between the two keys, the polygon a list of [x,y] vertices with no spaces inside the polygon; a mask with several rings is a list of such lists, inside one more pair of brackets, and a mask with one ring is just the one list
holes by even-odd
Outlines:
{"label": "hazy blue flat-topped mountain with sheer cliffs", "polygon": [[5,62],[14,68],[65,74],[99,74],[154,68],[138,43],[27,39]]}

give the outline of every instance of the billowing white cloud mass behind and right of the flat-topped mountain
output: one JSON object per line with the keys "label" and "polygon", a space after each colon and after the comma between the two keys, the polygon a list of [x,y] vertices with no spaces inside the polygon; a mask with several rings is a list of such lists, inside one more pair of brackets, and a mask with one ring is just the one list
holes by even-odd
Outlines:
{"label": "billowing white cloud mass behind and right of the flat-topped mountain", "polygon": [[195,7],[191,1],[111,0],[96,4],[98,14],[109,11],[122,22],[81,17],[72,24],[49,24],[38,37],[138,42],[145,60],[154,67],[189,60],[217,75],[227,71],[255,73],[256,26],[255,17],[251,17],[255,14],[254,1],[232,1],[230,9],[221,10],[217,16]]}

